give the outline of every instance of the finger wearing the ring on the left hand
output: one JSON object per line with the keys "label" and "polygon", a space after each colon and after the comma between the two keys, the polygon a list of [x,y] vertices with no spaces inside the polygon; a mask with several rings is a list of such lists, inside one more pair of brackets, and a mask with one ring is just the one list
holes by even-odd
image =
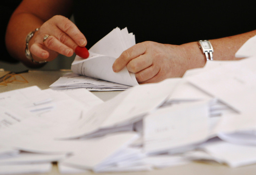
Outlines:
{"label": "finger wearing the ring on the left hand", "polygon": [[71,57],[74,53],[71,48],[67,47],[54,36],[49,36],[43,43],[48,49],[56,51],[67,57]]}

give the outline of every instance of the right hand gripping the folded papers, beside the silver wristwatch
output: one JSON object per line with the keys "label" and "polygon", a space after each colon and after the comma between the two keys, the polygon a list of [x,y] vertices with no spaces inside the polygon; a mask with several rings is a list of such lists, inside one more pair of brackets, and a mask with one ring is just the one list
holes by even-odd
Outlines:
{"label": "right hand gripping the folded papers, beside the silver wristwatch", "polygon": [[119,72],[125,66],[135,73],[140,84],[154,83],[166,78],[182,77],[190,68],[190,59],[182,45],[146,41],[123,51],[112,68],[114,72]]}

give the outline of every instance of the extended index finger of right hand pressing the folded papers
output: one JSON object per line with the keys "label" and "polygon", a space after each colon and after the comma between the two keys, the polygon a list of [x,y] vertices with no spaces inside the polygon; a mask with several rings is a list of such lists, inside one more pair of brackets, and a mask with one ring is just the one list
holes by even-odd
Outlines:
{"label": "extended index finger of right hand pressing the folded papers", "polygon": [[132,59],[143,55],[146,51],[145,44],[138,43],[122,52],[122,54],[113,63],[112,69],[114,72],[122,70]]}

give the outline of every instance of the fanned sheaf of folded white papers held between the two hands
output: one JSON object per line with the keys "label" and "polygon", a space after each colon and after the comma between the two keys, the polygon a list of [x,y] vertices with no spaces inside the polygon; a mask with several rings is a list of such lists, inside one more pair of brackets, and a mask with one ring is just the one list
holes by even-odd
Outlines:
{"label": "fanned sheaf of folded white papers held between the two hands", "polygon": [[90,54],[87,59],[80,57],[86,56],[86,54],[83,55],[83,52],[78,52],[80,56],[75,57],[71,69],[75,74],[129,86],[137,85],[135,75],[126,68],[123,68],[119,73],[114,73],[112,69],[115,59],[134,44],[134,35],[128,33],[127,28],[123,30],[115,28],[89,49]]}

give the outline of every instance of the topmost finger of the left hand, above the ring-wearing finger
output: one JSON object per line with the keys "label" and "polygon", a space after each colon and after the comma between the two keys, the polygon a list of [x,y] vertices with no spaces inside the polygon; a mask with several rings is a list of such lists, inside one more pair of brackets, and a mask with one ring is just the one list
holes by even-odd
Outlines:
{"label": "topmost finger of the left hand, above the ring-wearing finger", "polygon": [[54,20],[55,25],[60,30],[69,35],[70,38],[74,40],[74,42],[77,43],[80,47],[85,47],[85,45],[87,44],[87,40],[74,23],[72,23],[68,18],[63,16],[55,16],[55,18],[57,18],[56,20]]}

